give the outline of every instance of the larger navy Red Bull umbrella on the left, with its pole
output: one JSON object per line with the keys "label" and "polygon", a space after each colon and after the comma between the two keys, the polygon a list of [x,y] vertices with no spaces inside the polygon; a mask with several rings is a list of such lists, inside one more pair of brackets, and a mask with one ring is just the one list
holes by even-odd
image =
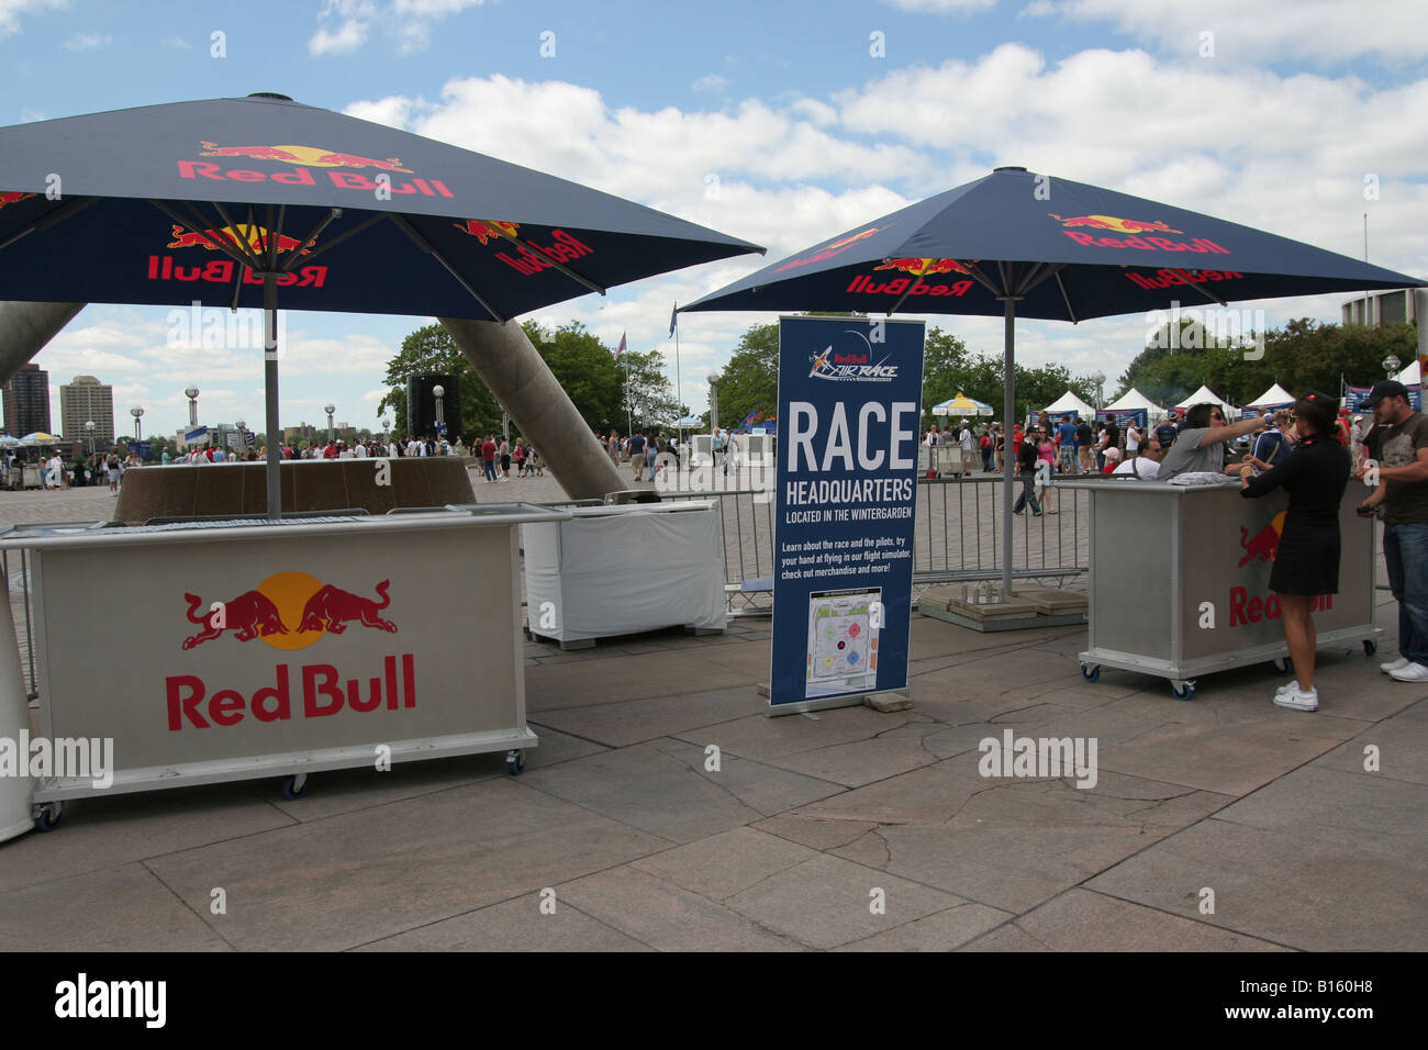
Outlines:
{"label": "larger navy Red Bull umbrella on the left, with its pole", "polygon": [[[0,129],[0,297],[261,306],[270,436],[278,293],[293,310],[506,321],[760,250],[278,94]],[[268,440],[273,517],[277,446]]]}

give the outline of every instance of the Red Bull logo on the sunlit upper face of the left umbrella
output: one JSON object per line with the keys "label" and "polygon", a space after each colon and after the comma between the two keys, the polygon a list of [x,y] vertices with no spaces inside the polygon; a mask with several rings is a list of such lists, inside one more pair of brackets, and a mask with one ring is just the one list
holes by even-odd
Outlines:
{"label": "Red Bull logo on the sunlit upper face of the left umbrella", "polygon": [[[338,153],[321,146],[218,146],[204,140],[201,143],[201,157],[246,157],[248,160],[268,161],[276,164],[290,164],[291,167],[274,171],[271,169],[224,167],[216,160],[180,160],[180,179],[203,179],[208,181],[233,183],[281,183],[284,186],[317,186],[313,171],[327,179],[338,190],[363,190],[371,193],[381,189],[391,194],[420,194],[426,197],[456,197],[447,184],[440,179],[408,179],[398,181],[387,171],[398,174],[413,174],[411,169],[401,166],[400,157],[363,157],[356,153]],[[338,170],[347,169],[347,170]],[[376,181],[363,170],[374,170],[381,176]]]}

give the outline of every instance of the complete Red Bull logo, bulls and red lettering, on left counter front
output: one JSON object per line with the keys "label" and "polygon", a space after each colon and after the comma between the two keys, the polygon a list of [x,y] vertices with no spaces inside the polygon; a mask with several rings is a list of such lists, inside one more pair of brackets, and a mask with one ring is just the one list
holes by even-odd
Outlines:
{"label": "complete Red Bull logo, bulls and red lettering, on left counter front", "polygon": [[[307,573],[286,571],[270,576],[254,590],[244,591],[231,601],[214,601],[206,611],[203,599],[184,594],[187,619],[201,630],[183,640],[191,650],[230,636],[231,641],[261,641],[273,649],[291,651],[307,649],[326,634],[343,634],[348,629],[371,629],[390,634],[397,624],[383,616],[391,603],[383,580],[366,597],[333,584],[324,584]],[[210,694],[208,684],[197,674],[170,674],[164,680],[170,731],[236,726],[248,716],[257,721],[284,721],[293,717],[293,679],[301,689],[297,697],[300,716],[307,719],[337,714],[344,707],[353,711],[374,711],[378,707],[398,710],[417,706],[416,657],[411,653],[384,656],[381,676],[341,679],[328,663],[304,664],[296,676],[288,664],[276,667],[273,686],[258,689],[251,697],[234,689],[220,689]]]}

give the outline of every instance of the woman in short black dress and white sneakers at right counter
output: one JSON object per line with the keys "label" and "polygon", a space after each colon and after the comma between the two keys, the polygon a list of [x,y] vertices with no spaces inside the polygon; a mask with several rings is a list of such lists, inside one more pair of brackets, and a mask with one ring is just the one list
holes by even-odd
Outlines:
{"label": "woman in short black dress and white sneakers at right counter", "polygon": [[[1254,499],[1279,487],[1289,496],[1269,590],[1279,596],[1294,680],[1279,687],[1274,701],[1298,711],[1319,706],[1314,689],[1317,636],[1309,610],[1318,596],[1338,593],[1338,516],[1352,463],[1348,450],[1334,440],[1337,410],[1338,403],[1328,394],[1307,393],[1294,403],[1298,433],[1294,451],[1274,467],[1247,456],[1240,470],[1241,496]],[[1254,469],[1265,473],[1251,477]]]}

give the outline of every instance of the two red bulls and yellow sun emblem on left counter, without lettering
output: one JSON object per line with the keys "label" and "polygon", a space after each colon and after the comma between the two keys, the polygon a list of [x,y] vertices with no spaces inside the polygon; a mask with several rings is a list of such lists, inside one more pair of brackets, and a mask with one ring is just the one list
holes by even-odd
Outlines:
{"label": "two red bulls and yellow sun emblem on left counter, without lettering", "polygon": [[383,580],[376,587],[377,597],[368,599],[323,584],[307,573],[277,573],[233,601],[216,603],[203,616],[197,614],[203,599],[184,594],[188,621],[203,624],[203,630],[184,639],[183,647],[201,646],[226,631],[238,641],[258,639],[286,650],[307,649],[323,634],[341,634],[353,624],[396,633],[397,624],[381,616],[391,603],[388,586],[390,581]]}

